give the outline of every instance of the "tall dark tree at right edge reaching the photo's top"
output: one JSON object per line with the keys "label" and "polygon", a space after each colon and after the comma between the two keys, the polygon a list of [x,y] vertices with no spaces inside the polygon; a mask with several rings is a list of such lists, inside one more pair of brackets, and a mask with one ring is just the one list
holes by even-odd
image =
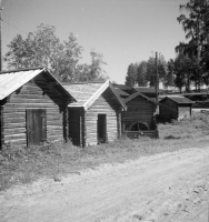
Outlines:
{"label": "tall dark tree at right edge reaching the photo's top", "polygon": [[187,4],[180,6],[180,10],[189,12],[188,17],[181,14],[177,18],[186,32],[188,43],[181,42],[177,51],[187,54],[196,60],[196,85],[200,89],[201,81],[208,82],[207,74],[209,70],[209,1],[190,0]]}

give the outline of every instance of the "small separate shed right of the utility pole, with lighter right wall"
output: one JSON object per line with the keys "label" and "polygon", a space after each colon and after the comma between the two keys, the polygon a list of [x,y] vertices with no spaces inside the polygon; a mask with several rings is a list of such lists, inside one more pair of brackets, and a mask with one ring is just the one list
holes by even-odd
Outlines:
{"label": "small separate shed right of the utility pole, with lighter right wall", "polygon": [[180,95],[165,97],[159,102],[160,119],[162,121],[178,120],[191,117],[195,102]]}

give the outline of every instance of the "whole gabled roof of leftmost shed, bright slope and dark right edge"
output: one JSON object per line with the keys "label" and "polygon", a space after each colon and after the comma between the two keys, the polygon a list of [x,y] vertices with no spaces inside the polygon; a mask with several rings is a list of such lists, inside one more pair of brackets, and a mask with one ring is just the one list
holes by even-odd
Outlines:
{"label": "whole gabled roof of leftmost shed, bright slope and dark right edge", "polygon": [[32,80],[38,74],[44,72],[47,77],[56,83],[56,87],[66,95],[71,94],[62,87],[62,84],[50,73],[47,68],[31,68],[22,70],[3,71],[0,73],[0,100],[3,100],[20,87]]}

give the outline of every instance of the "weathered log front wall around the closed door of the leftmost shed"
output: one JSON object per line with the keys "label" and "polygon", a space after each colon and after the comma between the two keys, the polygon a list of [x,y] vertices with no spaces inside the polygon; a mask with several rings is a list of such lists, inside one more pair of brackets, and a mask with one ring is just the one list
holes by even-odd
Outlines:
{"label": "weathered log front wall around the closed door of the leftmost shed", "polygon": [[39,74],[13,92],[3,105],[3,137],[6,143],[27,145],[27,109],[47,110],[47,140],[63,139],[63,98]]}

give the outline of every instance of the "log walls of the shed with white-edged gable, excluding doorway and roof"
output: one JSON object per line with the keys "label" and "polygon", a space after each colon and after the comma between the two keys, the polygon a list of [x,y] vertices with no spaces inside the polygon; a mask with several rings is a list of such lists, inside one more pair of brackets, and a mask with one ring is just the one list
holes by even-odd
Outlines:
{"label": "log walls of the shed with white-edged gable, excluding doorway and roof", "polygon": [[121,105],[116,95],[108,88],[99,98],[87,109],[68,108],[69,113],[69,138],[76,145],[94,145],[98,144],[98,115],[106,115],[106,141],[118,139],[121,130],[119,118]]}

